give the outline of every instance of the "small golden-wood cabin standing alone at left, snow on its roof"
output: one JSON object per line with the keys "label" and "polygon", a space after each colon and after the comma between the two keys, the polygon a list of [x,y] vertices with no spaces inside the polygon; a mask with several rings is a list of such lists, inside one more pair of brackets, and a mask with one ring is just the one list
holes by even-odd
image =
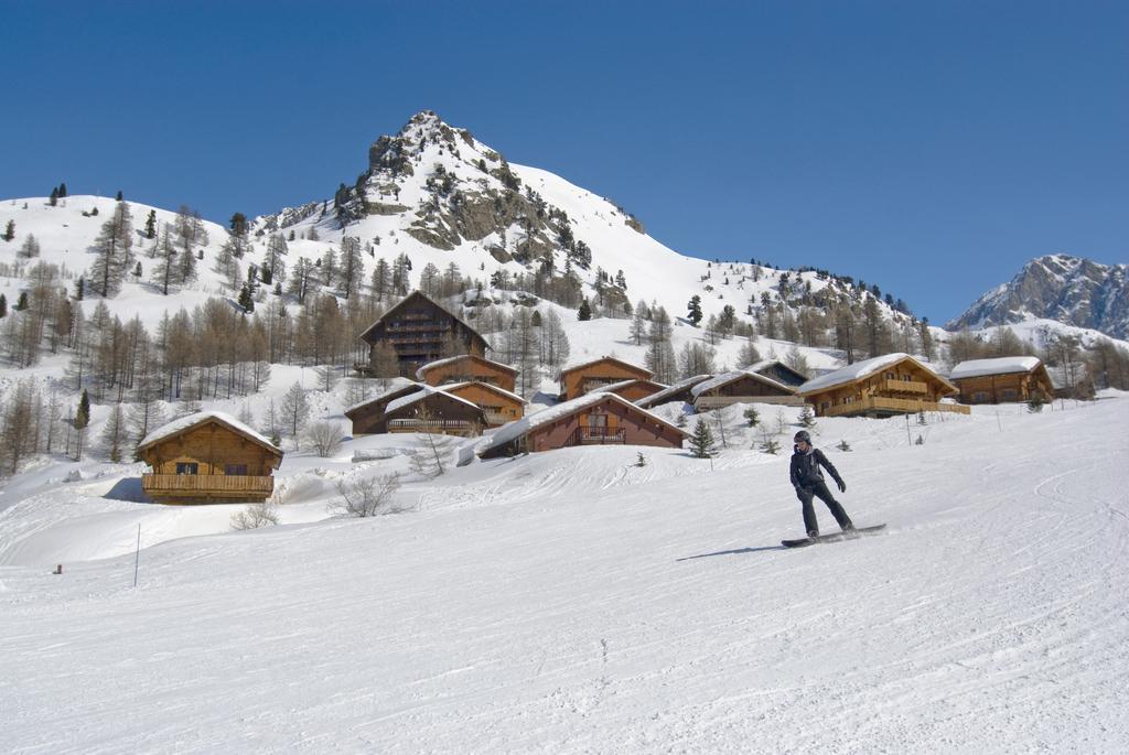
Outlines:
{"label": "small golden-wood cabin standing alone at left, snow on its roof", "polygon": [[138,446],[151,473],[141,489],[160,503],[265,501],[282,449],[222,412],[199,412],[150,432]]}

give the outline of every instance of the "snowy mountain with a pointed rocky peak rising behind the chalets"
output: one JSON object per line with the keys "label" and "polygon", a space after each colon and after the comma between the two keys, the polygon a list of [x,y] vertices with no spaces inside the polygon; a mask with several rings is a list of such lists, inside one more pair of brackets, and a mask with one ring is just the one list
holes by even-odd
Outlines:
{"label": "snowy mountain with a pointed rocky peak rising behind the chalets", "polygon": [[[254,218],[234,276],[231,266],[220,270],[228,228],[201,220],[204,234],[193,245],[200,260],[196,278],[173,286],[166,295],[152,276],[159,265],[161,229],[175,228],[178,213],[126,200],[132,252],[141,266],[131,269],[107,304],[113,314],[123,318],[139,314],[149,326],[166,310],[191,309],[217,296],[234,300],[247,265],[264,264],[272,237],[286,240],[290,267],[298,257],[313,262],[330,249],[340,252],[345,239],[356,243],[367,252],[361,254],[359,275],[364,284],[378,260],[391,263],[401,255],[411,262],[412,288],[421,286],[422,272],[430,266],[444,273],[454,266],[488,289],[499,280],[522,282],[509,288],[534,289],[539,276],[559,287],[570,272],[577,299],[588,298],[612,315],[642,300],[677,317],[697,295],[707,319],[727,306],[747,318],[765,300],[773,306],[826,305],[854,295],[859,306],[876,293],[876,287],[860,292],[850,279],[826,271],[680,254],[648,236],[642,222],[614,202],[549,172],[510,164],[465,129],[450,126],[431,112],[414,115],[395,135],[377,139],[365,169],[355,181],[342,183],[332,197]],[[11,231],[10,239],[0,240],[0,263],[8,265],[0,292],[15,302],[29,288],[27,272],[36,260],[20,255],[28,237],[38,245],[38,260],[60,266],[61,282],[76,282],[94,262],[91,248],[114,207],[108,197],[73,194],[55,203],[46,197],[0,201],[0,230]],[[154,230],[146,232],[150,218]],[[327,291],[340,293],[333,287]],[[264,287],[259,299],[270,296],[270,287]],[[885,318],[908,319],[903,302],[893,306],[889,295],[886,300],[875,299]],[[290,297],[287,301],[295,304]]]}

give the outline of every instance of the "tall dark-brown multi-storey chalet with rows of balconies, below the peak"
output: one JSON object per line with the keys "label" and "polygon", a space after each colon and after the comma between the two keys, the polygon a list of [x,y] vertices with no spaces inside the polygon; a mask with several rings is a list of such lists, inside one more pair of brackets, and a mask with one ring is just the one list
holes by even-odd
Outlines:
{"label": "tall dark-brown multi-storey chalet with rows of balconies, below the peak", "polygon": [[369,362],[358,365],[359,371],[375,371],[376,351],[388,344],[396,352],[403,376],[414,375],[423,365],[444,357],[464,353],[482,357],[488,348],[478,331],[422,291],[412,291],[401,299],[360,337],[369,345]]}

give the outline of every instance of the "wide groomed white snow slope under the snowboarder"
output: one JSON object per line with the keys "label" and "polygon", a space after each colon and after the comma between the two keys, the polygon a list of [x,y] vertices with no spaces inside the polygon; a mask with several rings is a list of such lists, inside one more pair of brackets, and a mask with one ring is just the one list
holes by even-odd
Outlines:
{"label": "wide groomed white snow slope under the snowboarder", "polygon": [[[889,530],[798,552],[779,547],[800,528],[787,456],[749,450],[741,410],[712,465],[471,464],[409,482],[400,516],[146,547],[135,589],[130,537],[157,507],[112,501],[125,555],[0,567],[0,749],[1129,746],[1129,400],[821,421],[848,511]],[[394,439],[288,458],[307,503],[285,520],[340,475],[401,468],[350,462]]]}

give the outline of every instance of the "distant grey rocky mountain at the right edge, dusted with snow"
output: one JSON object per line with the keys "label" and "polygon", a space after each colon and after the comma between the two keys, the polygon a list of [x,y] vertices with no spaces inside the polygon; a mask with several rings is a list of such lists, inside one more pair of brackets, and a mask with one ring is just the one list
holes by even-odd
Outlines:
{"label": "distant grey rocky mountain at the right edge, dusted with snow", "polygon": [[1036,257],[948,326],[979,328],[1040,318],[1129,339],[1129,265],[1065,254]]}

